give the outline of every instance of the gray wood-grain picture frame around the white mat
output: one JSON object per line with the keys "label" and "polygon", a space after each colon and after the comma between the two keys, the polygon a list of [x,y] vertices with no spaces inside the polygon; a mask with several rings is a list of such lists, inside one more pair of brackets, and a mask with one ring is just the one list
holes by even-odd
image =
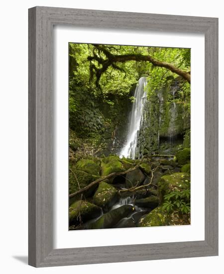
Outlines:
{"label": "gray wood-grain picture frame around the white mat", "polygon": [[[53,249],[53,25],[205,34],[205,241]],[[29,9],[29,265],[218,255],[218,18],[58,7]]]}

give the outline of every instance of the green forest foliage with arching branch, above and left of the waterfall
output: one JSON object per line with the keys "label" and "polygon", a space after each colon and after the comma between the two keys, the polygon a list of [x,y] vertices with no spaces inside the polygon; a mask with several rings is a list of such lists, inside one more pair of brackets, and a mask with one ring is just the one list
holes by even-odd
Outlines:
{"label": "green forest foliage with arching branch, above and left of the waterfall", "polygon": [[190,108],[187,48],[69,43],[69,73],[70,129],[94,150],[124,123],[123,111],[133,102],[133,89],[142,76],[148,80],[148,96],[179,77],[176,100]]}

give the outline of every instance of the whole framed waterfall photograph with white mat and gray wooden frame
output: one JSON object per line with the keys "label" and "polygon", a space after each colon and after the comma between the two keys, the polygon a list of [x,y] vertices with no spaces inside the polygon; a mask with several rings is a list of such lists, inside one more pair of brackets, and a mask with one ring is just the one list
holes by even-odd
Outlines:
{"label": "whole framed waterfall photograph with white mat and gray wooden frame", "polygon": [[218,255],[218,18],[29,9],[29,265]]}

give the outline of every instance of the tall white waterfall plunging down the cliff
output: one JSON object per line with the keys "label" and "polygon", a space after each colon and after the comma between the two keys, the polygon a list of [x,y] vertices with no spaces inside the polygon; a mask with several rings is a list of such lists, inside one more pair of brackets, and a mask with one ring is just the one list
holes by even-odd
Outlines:
{"label": "tall white waterfall plunging down the cliff", "polygon": [[135,159],[137,137],[141,125],[143,107],[146,101],[146,92],[144,91],[144,87],[146,86],[146,84],[146,78],[141,77],[138,80],[138,85],[135,88],[135,100],[130,113],[130,123],[127,131],[126,144],[120,151],[120,157],[124,156],[126,158]]}

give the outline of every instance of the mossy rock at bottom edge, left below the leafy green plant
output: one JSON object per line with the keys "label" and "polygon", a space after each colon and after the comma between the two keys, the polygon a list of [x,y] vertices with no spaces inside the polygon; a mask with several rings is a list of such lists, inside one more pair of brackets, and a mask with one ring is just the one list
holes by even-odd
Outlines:
{"label": "mossy rock at bottom edge, left below the leafy green plant", "polygon": [[170,222],[170,215],[163,210],[162,206],[159,206],[150,213],[142,216],[138,222],[138,227],[167,226]]}

